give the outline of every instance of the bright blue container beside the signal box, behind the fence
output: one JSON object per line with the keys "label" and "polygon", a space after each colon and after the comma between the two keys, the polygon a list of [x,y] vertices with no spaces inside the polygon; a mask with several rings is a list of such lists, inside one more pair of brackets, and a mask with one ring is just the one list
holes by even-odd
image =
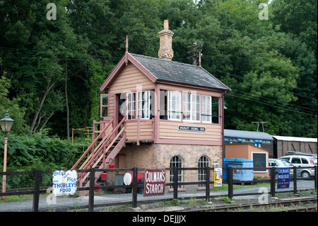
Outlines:
{"label": "bright blue container beside the signal box, behind the fence", "polygon": [[[253,168],[253,161],[249,159],[229,159],[228,167],[232,168]],[[233,169],[234,181],[252,181],[253,169]]]}

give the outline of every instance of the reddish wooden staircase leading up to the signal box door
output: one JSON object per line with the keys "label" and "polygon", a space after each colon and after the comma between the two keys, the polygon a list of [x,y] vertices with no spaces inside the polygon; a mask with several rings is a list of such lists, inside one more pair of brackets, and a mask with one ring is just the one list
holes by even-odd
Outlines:
{"label": "reddish wooden staircase leading up to the signal box door", "polygon": [[[76,164],[73,165],[71,170],[76,169],[76,167],[82,162],[84,157],[90,155],[88,158],[81,164],[78,169],[107,169],[112,160],[116,157],[118,152],[125,146],[126,141],[126,117],[114,127],[114,118],[100,131],[98,137],[93,140],[92,144],[86,149],[86,152],[78,159]],[[120,131],[119,131],[120,130]],[[97,145],[95,147],[95,145]],[[79,174],[79,183],[78,187],[88,187],[90,184],[89,181],[89,172]],[[100,178],[102,174],[101,171],[95,173],[95,182]],[[80,191],[80,196],[86,196],[88,191]]]}

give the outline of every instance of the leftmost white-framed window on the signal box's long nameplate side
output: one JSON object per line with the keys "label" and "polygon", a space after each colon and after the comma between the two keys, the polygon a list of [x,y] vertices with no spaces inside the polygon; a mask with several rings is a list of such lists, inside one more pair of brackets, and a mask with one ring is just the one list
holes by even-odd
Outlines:
{"label": "leftmost white-framed window on the signal box's long nameplate side", "polygon": [[181,120],[181,92],[179,91],[167,92],[167,119]]}

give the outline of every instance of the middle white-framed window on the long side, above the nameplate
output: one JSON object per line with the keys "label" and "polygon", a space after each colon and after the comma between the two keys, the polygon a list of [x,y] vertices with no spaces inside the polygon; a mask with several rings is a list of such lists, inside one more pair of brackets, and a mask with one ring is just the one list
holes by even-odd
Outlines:
{"label": "middle white-framed window on the long side, above the nameplate", "polygon": [[[183,93],[182,97],[183,97],[182,104],[184,106],[184,108],[182,109],[182,112],[184,114],[183,120],[200,123],[201,122],[201,95]],[[188,106],[190,106],[190,109],[188,108]],[[199,120],[198,120],[198,115],[199,115]]]}

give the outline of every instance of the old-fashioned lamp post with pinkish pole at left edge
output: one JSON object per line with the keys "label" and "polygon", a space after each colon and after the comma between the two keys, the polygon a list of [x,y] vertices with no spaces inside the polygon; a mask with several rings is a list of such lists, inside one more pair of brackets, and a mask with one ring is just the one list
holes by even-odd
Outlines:
{"label": "old-fashioned lamp post with pinkish pole at left edge", "polygon": [[[14,120],[11,119],[6,111],[4,118],[0,120],[2,132],[4,132],[4,172],[6,172],[6,149],[8,145],[8,132],[10,132]],[[2,176],[2,192],[6,192],[6,175]],[[5,196],[2,196],[1,200],[4,200]]]}

